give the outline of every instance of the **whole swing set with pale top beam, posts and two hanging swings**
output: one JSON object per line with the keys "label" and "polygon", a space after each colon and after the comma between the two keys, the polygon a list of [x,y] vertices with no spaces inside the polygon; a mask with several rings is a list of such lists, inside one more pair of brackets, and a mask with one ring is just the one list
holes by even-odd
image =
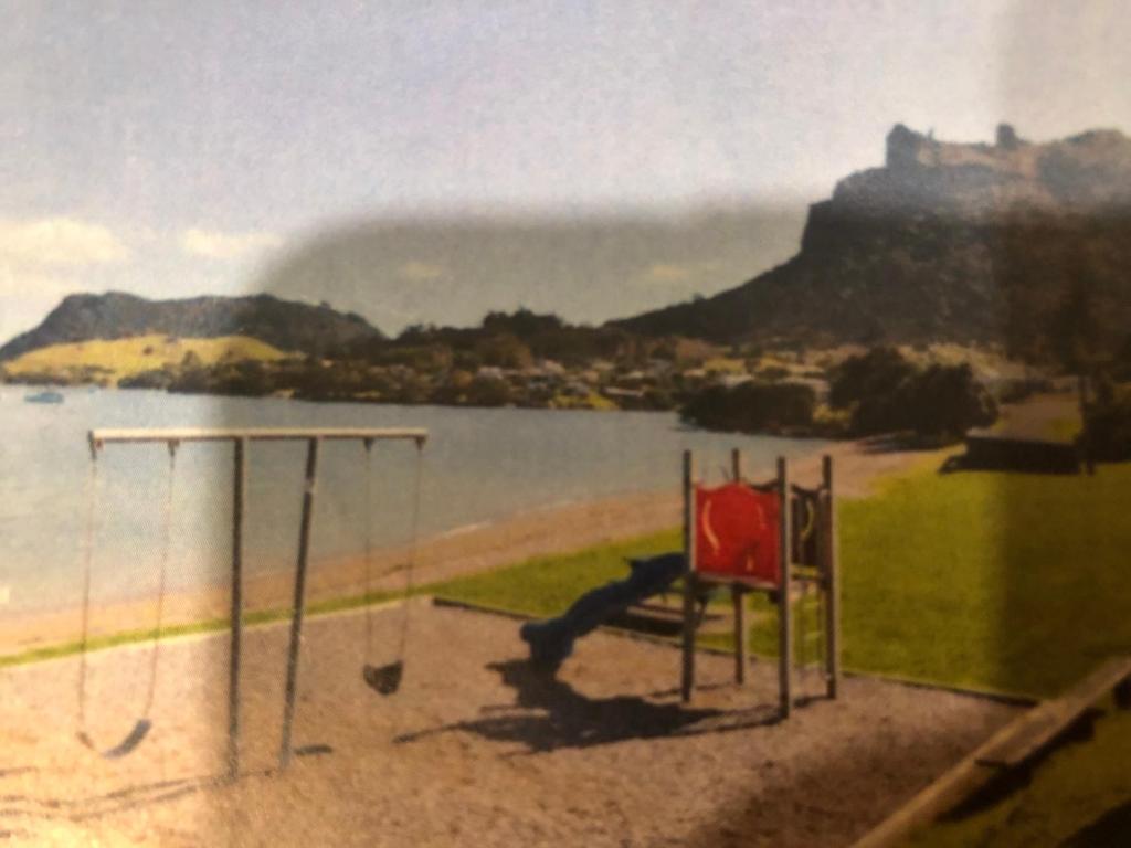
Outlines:
{"label": "whole swing set with pale top beam, posts and two hanging swings", "polygon": [[[243,531],[247,512],[247,479],[249,444],[254,441],[302,441],[307,443],[307,462],[302,499],[302,517],[299,530],[297,563],[294,580],[294,600],[291,608],[291,634],[287,648],[286,686],[284,692],[282,741],[278,765],[285,769],[293,755],[292,727],[294,724],[295,696],[299,684],[299,647],[307,606],[307,572],[311,529],[313,522],[314,493],[318,482],[319,448],[323,441],[360,442],[365,452],[365,592],[372,592],[372,517],[373,517],[373,445],[378,441],[412,441],[416,445],[414,495],[412,509],[412,546],[407,563],[405,600],[412,592],[413,566],[416,557],[416,537],[420,521],[420,490],[423,447],[428,431],[422,429],[372,429],[372,427],[299,427],[299,429],[165,429],[165,430],[92,430],[88,433],[90,447],[90,476],[86,510],[86,538],[83,566],[83,618],[79,643],[78,715],[76,719],[78,741],[87,749],[106,759],[118,759],[135,751],[153,729],[153,704],[157,687],[158,658],[161,652],[166,572],[169,569],[170,537],[173,511],[174,483],[176,478],[176,453],[184,442],[231,442],[232,444],[232,589],[231,589],[231,641],[228,652],[228,778],[234,780],[240,773],[240,659],[243,639]],[[104,745],[95,742],[87,726],[87,685],[89,668],[87,655],[90,650],[90,589],[93,576],[94,543],[96,536],[96,491],[98,485],[98,455],[110,444],[164,443],[169,450],[167,483],[162,507],[162,542],[158,565],[156,599],[156,622],[149,648],[149,664],[146,680],[146,696],[140,715],[132,729],[120,742]],[[366,607],[366,657],[373,656],[372,611]],[[400,686],[404,675],[404,651],[408,629],[408,605],[402,609],[400,632],[396,660],[386,665],[365,663],[362,678],[365,684],[381,695],[390,695]]]}

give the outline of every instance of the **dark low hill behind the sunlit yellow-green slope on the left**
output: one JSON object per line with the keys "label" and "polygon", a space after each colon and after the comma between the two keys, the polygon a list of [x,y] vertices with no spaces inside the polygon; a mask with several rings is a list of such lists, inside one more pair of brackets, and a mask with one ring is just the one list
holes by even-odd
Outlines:
{"label": "dark low hill behind the sunlit yellow-green slope on the left", "polygon": [[0,347],[0,362],[52,345],[159,334],[183,338],[247,336],[279,351],[322,354],[383,338],[357,314],[268,294],[149,301],[132,294],[72,294],[33,330]]}

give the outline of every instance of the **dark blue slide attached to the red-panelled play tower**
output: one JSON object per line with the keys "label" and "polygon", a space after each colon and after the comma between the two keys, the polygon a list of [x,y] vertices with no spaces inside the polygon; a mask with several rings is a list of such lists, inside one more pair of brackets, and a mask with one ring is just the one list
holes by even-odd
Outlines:
{"label": "dark blue slide attached to the red-panelled play tower", "polygon": [[683,574],[684,559],[682,553],[659,554],[646,560],[629,560],[629,568],[631,573],[625,580],[586,592],[563,615],[524,624],[518,632],[530,646],[530,661],[556,670],[573,652],[575,639],[632,604],[664,591]]}

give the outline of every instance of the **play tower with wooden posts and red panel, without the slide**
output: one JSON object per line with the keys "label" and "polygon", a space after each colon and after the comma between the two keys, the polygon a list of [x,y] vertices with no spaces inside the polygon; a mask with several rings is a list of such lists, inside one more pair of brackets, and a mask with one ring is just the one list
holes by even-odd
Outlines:
{"label": "play tower with wooden posts and red panel, without the slide", "polygon": [[789,716],[795,585],[802,589],[802,597],[808,597],[810,589],[817,590],[821,614],[820,631],[814,635],[823,642],[827,695],[836,699],[840,682],[836,537],[831,457],[822,458],[820,484],[804,488],[789,483],[788,466],[782,457],[772,479],[762,484],[745,481],[742,455],[735,449],[731,452],[729,482],[711,488],[696,482],[694,457],[684,451],[685,572],[680,687],[684,703],[691,700],[694,690],[696,630],[701,617],[697,606],[705,608],[707,598],[718,590],[729,591],[734,611],[734,677],[741,684],[748,665],[745,596],[763,592],[777,608],[779,711],[782,718]]}

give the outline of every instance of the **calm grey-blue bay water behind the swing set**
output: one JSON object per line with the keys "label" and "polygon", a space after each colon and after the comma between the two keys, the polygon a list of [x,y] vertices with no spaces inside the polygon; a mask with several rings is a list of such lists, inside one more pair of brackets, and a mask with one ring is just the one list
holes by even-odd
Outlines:
{"label": "calm grey-blue bay water behind the swing set", "polygon": [[[307,404],[148,391],[68,390],[66,403],[25,403],[0,387],[0,614],[72,606],[80,598],[90,497],[92,427],[423,426],[421,535],[494,521],[532,508],[680,484],[680,451],[725,466],[729,448],[750,468],[800,456],[819,442],[734,436],[680,427],[673,414],[459,409]],[[226,585],[231,537],[231,445],[184,444],[173,475],[171,588]],[[415,479],[411,442],[378,444],[372,460],[377,545],[408,540]],[[247,553],[250,572],[293,566],[304,447],[250,448]],[[107,445],[94,487],[95,595],[152,592],[170,482],[164,445]],[[322,448],[313,554],[363,550],[364,451]],[[716,471],[717,474],[717,471]]]}

